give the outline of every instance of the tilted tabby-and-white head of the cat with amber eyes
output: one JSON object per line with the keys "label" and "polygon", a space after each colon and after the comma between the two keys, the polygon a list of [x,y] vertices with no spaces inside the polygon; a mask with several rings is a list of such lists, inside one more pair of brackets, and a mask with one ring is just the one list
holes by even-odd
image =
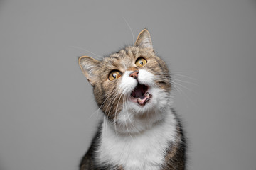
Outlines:
{"label": "tilted tabby-and-white head of the cat with amber eyes", "polygon": [[169,69],[156,56],[146,29],[139,33],[134,46],[125,47],[101,61],[82,56],[79,64],[93,86],[98,106],[114,123],[150,118],[149,115],[169,106]]}

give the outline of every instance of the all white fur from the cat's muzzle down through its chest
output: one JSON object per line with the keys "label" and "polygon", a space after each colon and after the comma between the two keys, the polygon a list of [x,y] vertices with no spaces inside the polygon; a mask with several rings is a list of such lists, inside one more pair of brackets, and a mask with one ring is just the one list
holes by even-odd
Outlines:
{"label": "all white fur from the cat's muzzle down through its chest", "polygon": [[[137,86],[130,73],[124,72],[119,84],[124,96],[129,96]],[[96,152],[100,164],[107,162],[129,170],[161,169],[166,149],[175,141],[177,123],[169,107],[169,92],[155,86],[154,75],[145,69],[139,69],[138,81],[149,86],[152,98],[144,107],[124,98],[115,123],[105,118]]]}

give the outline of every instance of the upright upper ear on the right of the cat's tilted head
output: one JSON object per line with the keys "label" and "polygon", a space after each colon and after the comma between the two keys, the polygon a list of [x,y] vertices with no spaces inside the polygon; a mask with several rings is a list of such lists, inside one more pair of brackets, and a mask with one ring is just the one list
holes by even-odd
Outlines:
{"label": "upright upper ear on the right of the cat's tilted head", "polygon": [[144,29],[139,33],[134,46],[149,48],[153,50],[153,45],[148,30]]}

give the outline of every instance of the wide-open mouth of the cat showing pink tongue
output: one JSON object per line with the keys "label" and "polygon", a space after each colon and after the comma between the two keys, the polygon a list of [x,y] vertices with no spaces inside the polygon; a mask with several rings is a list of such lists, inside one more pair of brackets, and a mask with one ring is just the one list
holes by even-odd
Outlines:
{"label": "wide-open mouth of the cat showing pink tongue", "polygon": [[145,104],[152,98],[148,89],[148,86],[138,83],[131,93],[132,101],[137,102],[140,106],[145,106]]}

